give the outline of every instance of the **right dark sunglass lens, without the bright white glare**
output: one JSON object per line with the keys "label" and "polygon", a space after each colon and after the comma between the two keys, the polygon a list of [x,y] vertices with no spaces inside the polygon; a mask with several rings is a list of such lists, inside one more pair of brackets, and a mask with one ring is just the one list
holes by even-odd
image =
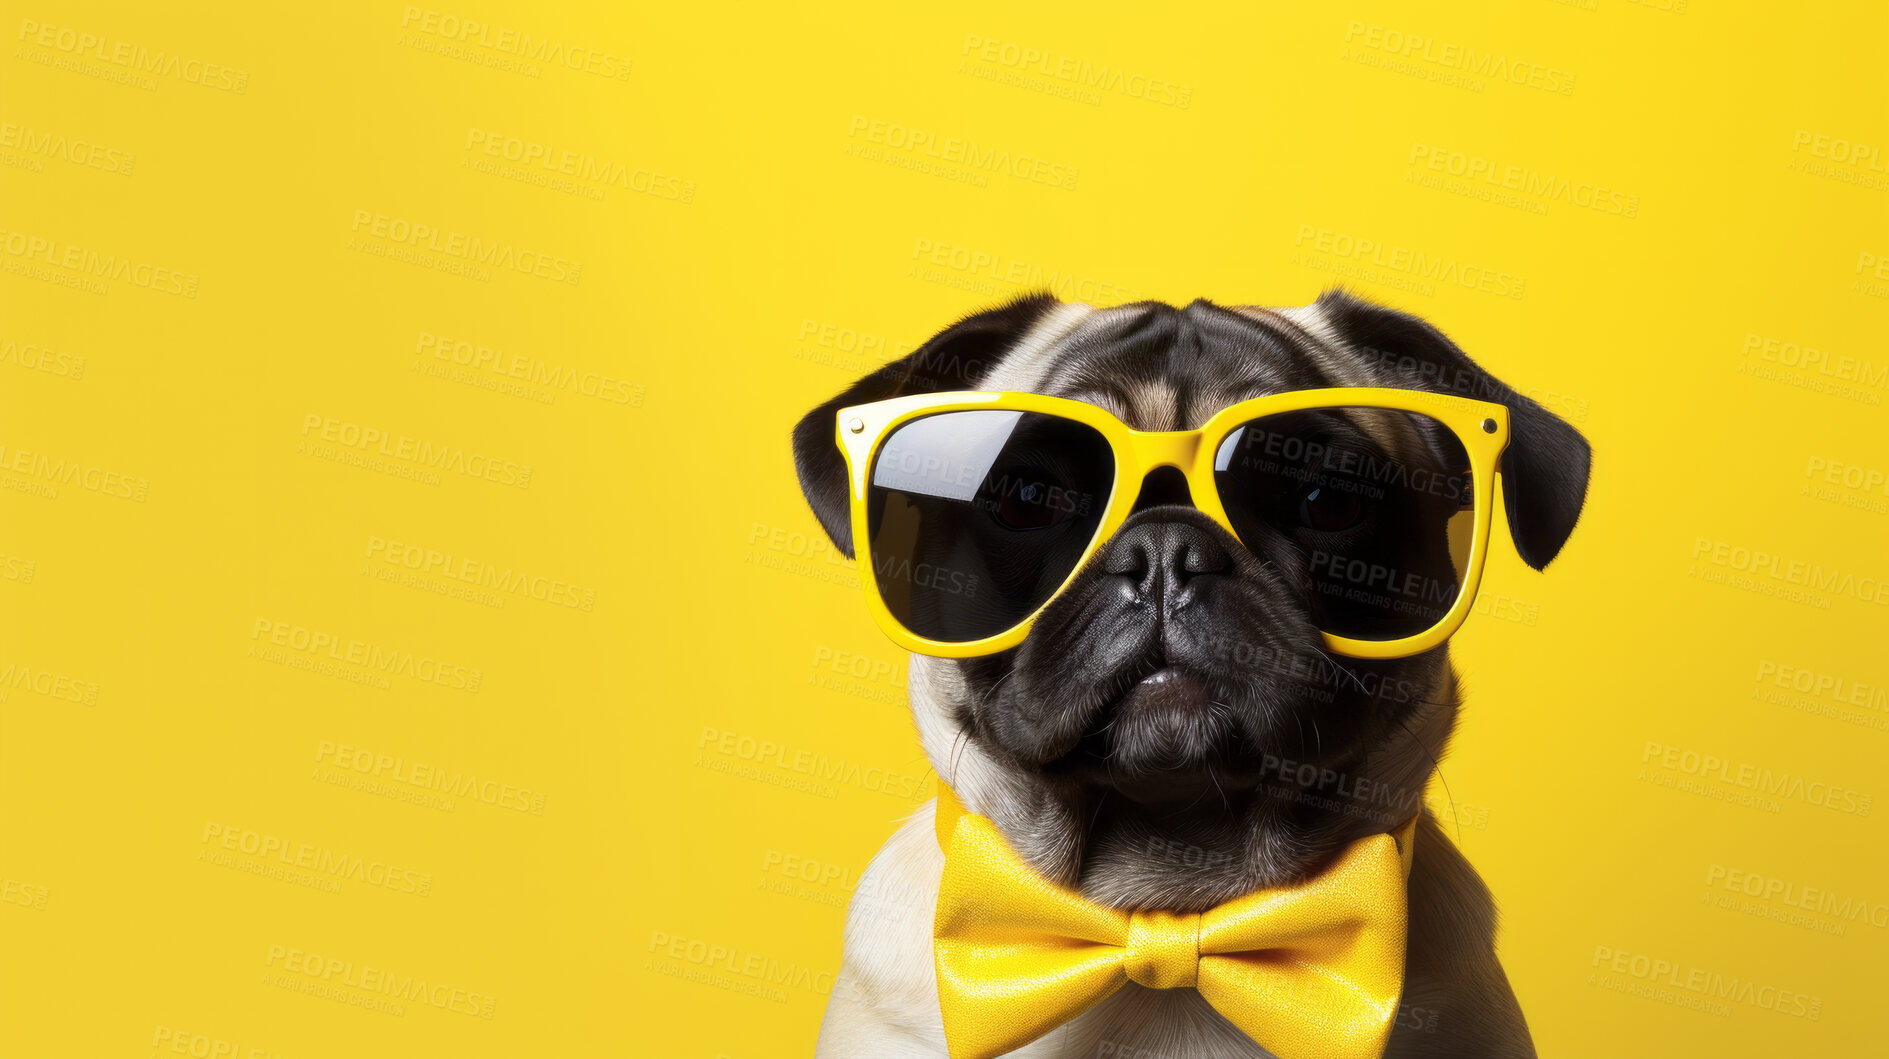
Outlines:
{"label": "right dark sunglass lens, without the bright white glare", "polygon": [[1215,453],[1252,551],[1290,557],[1326,632],[1400,640],[1449,614],[1470,561],[1470,457],[1415,412],[1320,408],[1254,419]]}

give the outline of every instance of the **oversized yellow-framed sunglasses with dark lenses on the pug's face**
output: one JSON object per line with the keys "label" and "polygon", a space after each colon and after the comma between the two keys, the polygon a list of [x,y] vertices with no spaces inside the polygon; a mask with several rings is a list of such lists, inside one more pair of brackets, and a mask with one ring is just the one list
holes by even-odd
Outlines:
{"label": "oversized yellow-framed sunglasses with dark lenses on the pug's face", "polygon": [[1033,393],[841,408],[867,608],[909,651],[1014,647],[1133,513],[1158,468],[1262,559],[1302,570],[1330,649],[1396,659],[1447,640],[1489,553],[1509,410],[1379,387],[1232,404],[1198,430],[1135,430]]}

